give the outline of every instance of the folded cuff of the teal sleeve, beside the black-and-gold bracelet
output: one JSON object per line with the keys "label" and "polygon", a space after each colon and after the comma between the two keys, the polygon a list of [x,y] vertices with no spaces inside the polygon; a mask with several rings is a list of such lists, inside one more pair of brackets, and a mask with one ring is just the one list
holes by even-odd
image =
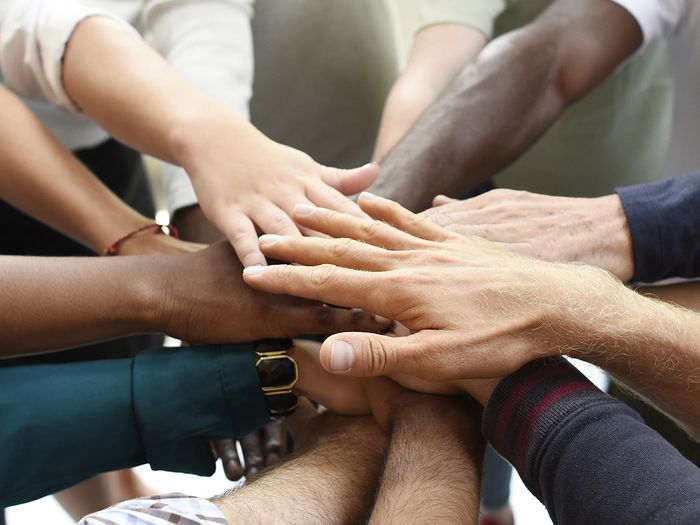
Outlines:
{"label": "folded cuff of the teal sleeve, beside the black-and-gold bracelet", "polygon": [[210,476],[210,442],[270,421],[250,344],[164,348],[134,358],[134,410],[155,470]]}

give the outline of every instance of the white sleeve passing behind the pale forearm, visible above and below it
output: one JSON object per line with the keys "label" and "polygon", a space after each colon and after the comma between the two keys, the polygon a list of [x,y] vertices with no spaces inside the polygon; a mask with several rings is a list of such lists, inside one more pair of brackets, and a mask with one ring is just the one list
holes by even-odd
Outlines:
{"label": "white sleeve passing behind the pale forearm, visible above and below it", "polygon": [[[249,118],[253,89],[253,3],[149,0],[141,21],[147,38],[173,69],[244,118]],[[182,168],[164,164],[163,180],[171,212],[197,203]]]}

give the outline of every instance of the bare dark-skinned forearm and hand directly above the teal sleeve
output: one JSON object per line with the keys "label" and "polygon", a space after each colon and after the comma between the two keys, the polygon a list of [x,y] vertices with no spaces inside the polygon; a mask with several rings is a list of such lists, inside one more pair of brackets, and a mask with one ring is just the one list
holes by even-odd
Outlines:
{"label": "bare dark-skinned forearm and hand directly above the teal sleeve", "polygon": [[386,326],[365,313],[253,291],[227,243],[179,255],[0,257],[0,268],[3,357],[147,332],[230,343]]}

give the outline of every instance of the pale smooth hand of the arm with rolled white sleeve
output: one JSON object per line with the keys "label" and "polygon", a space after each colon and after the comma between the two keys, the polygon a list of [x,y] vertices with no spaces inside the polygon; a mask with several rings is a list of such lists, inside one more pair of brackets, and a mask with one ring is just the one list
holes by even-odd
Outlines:
{"label": "pale smooth hand of the arm with rolled white sleeve", "polygon": [[[362,215],[344,195],[367,188],[379,174],[376,164],[338,170],[277,144],[254,128],[241,133],[222,116],[197,130],[183,146],[187,170],[209,220],[231,242],[244,266],[264,265],[256,229],[301,235],[290,218],[297,203]],[[308,232],[307,232],[308,233]]]}

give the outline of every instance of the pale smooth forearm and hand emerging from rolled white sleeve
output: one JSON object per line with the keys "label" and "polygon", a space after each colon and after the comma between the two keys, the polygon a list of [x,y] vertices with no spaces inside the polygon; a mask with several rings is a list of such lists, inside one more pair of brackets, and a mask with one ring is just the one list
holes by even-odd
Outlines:
{"label": "pale smooth forearm and hand emerging from rolled white sleeve", "polygon": [[81,22],[62,65],[66,92],[83,113],[125,144],[185,168],[207,218],[246,266],[265,264],[256,228],[300,234],[289,217],[296,203],[361,215],[344,195],[371,184],[376,165],[328,168],[269,140],[112,20]]}

